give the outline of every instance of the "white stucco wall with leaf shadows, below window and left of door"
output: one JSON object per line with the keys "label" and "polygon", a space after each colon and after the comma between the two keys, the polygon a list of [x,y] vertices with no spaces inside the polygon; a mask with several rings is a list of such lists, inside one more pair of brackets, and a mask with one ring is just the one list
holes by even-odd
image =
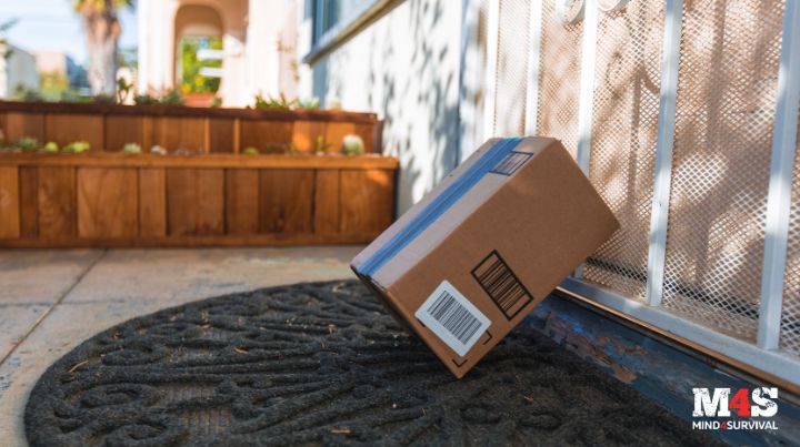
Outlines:
{"label": "white stucco wall with leaf shadows, below window and left of door", "polygon": [[398,212],[458,160],[461,1],[407,0],[313,63],[313,94],[384,120],[400,159]]}

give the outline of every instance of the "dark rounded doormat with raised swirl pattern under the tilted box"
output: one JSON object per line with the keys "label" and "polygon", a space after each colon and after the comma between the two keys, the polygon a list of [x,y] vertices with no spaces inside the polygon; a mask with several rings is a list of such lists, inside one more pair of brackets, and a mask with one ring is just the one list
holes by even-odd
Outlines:
{"label": "dark rounded doormat with raised swirl pattern under the tilted box", "polygon": [[714,443],[526,325],[458,380],[353,281],[114,326],[44,373],[24,424],[32,446]]}

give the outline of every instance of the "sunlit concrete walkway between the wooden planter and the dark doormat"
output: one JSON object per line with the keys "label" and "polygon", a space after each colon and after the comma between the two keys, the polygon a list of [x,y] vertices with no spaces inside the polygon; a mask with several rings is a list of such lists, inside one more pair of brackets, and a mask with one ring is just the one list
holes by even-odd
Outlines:
{"label": "sunlit concrete walkway between the wooden planter and the dark doormat", "polygon": [[0,446],[27,445],[39,376],[83,339],[190,301],[352,277],[360,247],[0,251]]}

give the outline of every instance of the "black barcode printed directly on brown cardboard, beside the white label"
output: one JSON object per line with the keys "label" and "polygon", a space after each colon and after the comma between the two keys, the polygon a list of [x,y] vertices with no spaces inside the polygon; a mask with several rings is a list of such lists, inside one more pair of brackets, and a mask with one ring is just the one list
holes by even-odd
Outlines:
{"label": "black barcode printed directly on brown cardboard, beside the white label", "polygon": [[532,299],[497,250],[472,270],[472,276],[508,319],[517,316]]}

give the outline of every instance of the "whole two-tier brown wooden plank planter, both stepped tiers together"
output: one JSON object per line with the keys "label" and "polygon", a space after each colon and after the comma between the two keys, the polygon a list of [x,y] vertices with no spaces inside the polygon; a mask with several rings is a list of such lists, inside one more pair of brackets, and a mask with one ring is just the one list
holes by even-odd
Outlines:
{"label": "whole two-tier brown wooden plank planter, both stepped tiers together", "polygon": [[[0,101],[0,247],[344,244],[392,221],[396,159],[373,113]],[[347,134],[361,156],[337,153]],[[146,154],[120,153],[137,143]],[[151,146],[188,155],[150,155]],[[292,149],[292,155],[244,156]]]}

